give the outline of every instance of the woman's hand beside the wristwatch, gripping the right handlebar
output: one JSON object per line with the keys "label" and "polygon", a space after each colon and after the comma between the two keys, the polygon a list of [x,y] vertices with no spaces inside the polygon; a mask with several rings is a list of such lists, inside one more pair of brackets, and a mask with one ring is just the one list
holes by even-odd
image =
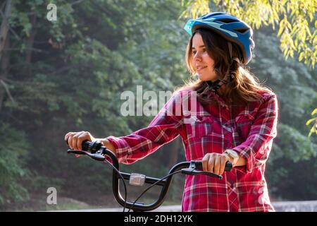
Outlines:
{"label": "woman's hand beside the wristwatch, gripping the right handlebar", "polygon": [[227,154],[207,153],[202,159],[203,170],[221,175],[225,171],[225,162],[232,162]]}

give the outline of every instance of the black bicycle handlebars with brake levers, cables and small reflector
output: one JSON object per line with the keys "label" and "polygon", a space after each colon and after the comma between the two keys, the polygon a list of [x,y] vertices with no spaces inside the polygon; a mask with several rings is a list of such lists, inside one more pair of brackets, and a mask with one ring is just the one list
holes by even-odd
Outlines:
{"label": "black bicycle handlebars with brake levers, cables and small reflector", "polygon": [[[67,143],[67,141],[66,141]],[[108,148],[104,147],[101,142],[99,141],[83,141],[82,142],[82,150],[73,150],[68,149],[68,153],[73,153],[77,155],[87,155],[94,160],[98,160],[101,162],[107,162],[111,167],[113,167],[113,177],[112,177],[112,184],[113,184],[113,195],[116,198],[116,201],[123,206],[123,212],[125,212],[125,208],[129,208],[128,212],[132,209],[133,211],[150,211],[156,208],[159,208],[163,203],[164,199],[166,198],[166,194],[168,193],[168,189],[170,187],[170,183],[172,181],[172,177],[174,174],[182,173],[187,175],[198,175],[198,174],[205,174],[210,177],[218,177],[218,179],[222,179],[223,177],[218,174],[214,174],[211,172],[204,172],[202,171],[202,162],[199,160],[192,160],[190,162],[179,162],[173,167],[171,167],[168,174],[163,178],[156,178],[156,177],[147,177],[144,174],[136,174],[136,173],[125,173],[119,171],[119,162],[116,155]],[[106,160],[106,156],[111,158],[111,162]],[[231,162],[226,162],[225,164],[225,171],[231,171],[232,164]],[[119,179],[123,180],[123,186],[125,189],[125,198],[120,194],[119,190]],[[146,184],[151,184],[147,189],[145,189],[142,194],[140,194],[137,199],[132,203],[127,201],[127,189],[125,185],[125,180],[129,180],[131,185],[135,186],[143,186]],[[143,194],[145,194],[151,187],[154,185],[162,186],[161,193],[159,194],[159,198],[151,204],[144,204],[138,203],[137,201]]]}

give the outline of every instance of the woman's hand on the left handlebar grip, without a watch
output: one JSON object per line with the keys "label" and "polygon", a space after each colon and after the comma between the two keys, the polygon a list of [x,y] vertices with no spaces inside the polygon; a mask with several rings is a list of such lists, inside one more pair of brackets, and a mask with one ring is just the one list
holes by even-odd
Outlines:
{"label": "woman's hand on the left handlebar grip, without a watch", "polygon": [[97,139],[87,131],[69,132],[65,135],[65,141],[68,141],[70,149],[82,150],[82,141],[96,141]]}

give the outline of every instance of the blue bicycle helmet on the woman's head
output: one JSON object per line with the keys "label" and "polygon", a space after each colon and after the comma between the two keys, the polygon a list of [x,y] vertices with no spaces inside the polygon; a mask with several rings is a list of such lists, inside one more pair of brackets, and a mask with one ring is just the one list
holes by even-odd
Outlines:
{"label": "blue bicycle helmet on the woman's head", "polygon": [[197,28],[212,30],[226,40],[237,44],[242,53],[242,64],[247,65],[251,61],[254,49],[253,30],[244,21],[228,13],[208,13],[200,18],[188,20],[184,27],[189,35],[192,35]]}

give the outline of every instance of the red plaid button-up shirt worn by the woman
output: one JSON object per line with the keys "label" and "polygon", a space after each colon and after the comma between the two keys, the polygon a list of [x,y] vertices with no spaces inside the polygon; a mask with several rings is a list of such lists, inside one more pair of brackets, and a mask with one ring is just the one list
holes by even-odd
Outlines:
{"label": "red plaid button-up shirt worn by the woman", "polygon": [[[183,100],[190,101],[191,93],[182,90],[173,95],[147,128],[128,136],[109,136],[119,162],[131,164],[140,160],[179,135],[187,161],[231,148],[247,160],[247,165],[225,172],[223,179],[187,175],[182,211],[275,211],[268,197],[264,171],[277,133],[276,95],[260,93],[259,102],[230,107],[210,92],[209,97],[217,100],[218,105],[203,107],[195,102],[192,106],[196,109],[190,107],[186,112],[188,107],[183,107]],[[177,111],[181,113],[175,114]]]}

